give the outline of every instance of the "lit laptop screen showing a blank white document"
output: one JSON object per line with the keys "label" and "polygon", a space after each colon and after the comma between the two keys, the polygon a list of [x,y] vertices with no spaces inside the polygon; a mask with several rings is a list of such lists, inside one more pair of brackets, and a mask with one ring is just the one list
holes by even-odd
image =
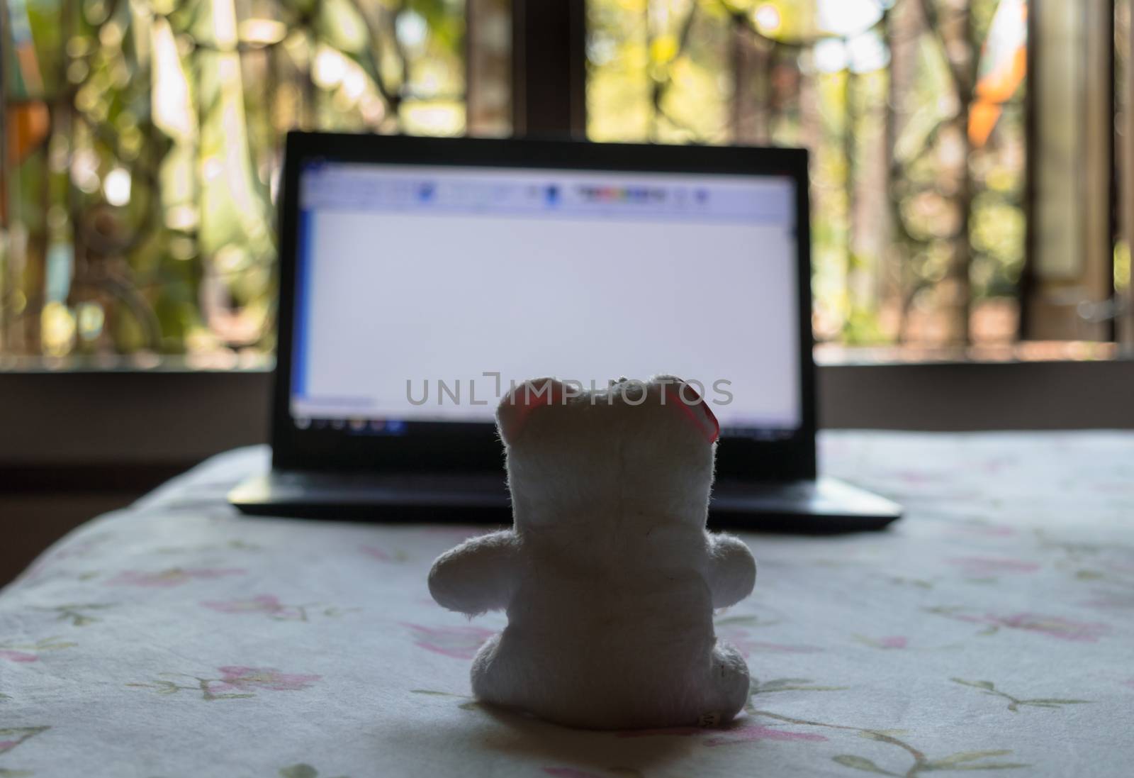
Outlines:
{"label": "lit laptop screen showing a blank white document", "polygon": [[308,162],[298,429],[491,422],[513,383],[671,373],[723,435],[802,424],[787,176]]}

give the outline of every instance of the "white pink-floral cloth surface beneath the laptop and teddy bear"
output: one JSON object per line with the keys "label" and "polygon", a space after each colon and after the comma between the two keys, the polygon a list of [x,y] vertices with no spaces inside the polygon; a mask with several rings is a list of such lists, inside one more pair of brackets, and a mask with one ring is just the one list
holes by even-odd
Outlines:
{"label": "white pink-floral cloth surface beneath the laptop and teddy bear", "polygon": [[606,733],[469,696],[503,617],[443,611],[425,572],[483,527],[244,518],[223,494],[268,451],[214,457],[0,593],[0,776],[1134,775],[1134,434],[844,432],[821,456],[907,516],[745,535],[755,593],[716,618],[746,713]]}

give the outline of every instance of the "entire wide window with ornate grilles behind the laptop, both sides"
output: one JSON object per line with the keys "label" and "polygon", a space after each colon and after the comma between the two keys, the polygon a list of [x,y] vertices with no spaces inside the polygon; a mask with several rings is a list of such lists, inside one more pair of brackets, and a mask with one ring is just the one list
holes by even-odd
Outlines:
{"label": "entire wide window with ornate grilles behind the laptop, both sides", "polygon": [[263,363],[281,133],[508,134],[556,58],[592,139],[811,149],[821,356],[1134,338],[1129,0],[564,5],[9,0],[0,366]]}

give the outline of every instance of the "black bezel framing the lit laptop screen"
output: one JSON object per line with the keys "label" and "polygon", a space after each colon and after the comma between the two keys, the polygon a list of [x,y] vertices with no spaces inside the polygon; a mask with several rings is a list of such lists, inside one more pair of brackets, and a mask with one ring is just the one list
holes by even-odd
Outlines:
{"label": "black bezel framing the lit laptop screen", "polygon": [[[501,445],[492,424],[429,424],[405,435],[356,435],[298,429],[290,414],[291,349],[299,226],[299,171],[306,162],[372,162],[601,172],[789,176],[796,189],[801,425],[786,438],[722,438],[721,477],[793,480],[815,476],[815,366],[811,328],[811,236],[807,152],[752,146],[606,144],[519,138],[431,138],[400,135],[288,133],[279,194],[279,305],[272,401],[272,465],[278,470],[493,471]],[[802,229],[801,229],[802,227]],[[706,328],[705,337],[713,337]],[[374,354],[373,358],[381,358]],[[438,374],[443,374],[443,371]],[[642,377],[644,378],[644,377]],[[418,429],[418,426],[421,429]]]}

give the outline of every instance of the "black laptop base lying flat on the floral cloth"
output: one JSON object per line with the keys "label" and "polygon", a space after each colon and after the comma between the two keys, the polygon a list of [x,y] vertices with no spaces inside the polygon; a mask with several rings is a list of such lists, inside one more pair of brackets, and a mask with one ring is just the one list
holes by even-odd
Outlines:
{"label": "black laptop base lying flat on the floral cloth", "polygon": [[[511,524],[502,474],[347,474],[273,471],[229,492],[249,516],[331,521]],[[718,481],[709,527],[790,534],[881,530],[902,508],[864,489],[822,476],[815,481]]]}

